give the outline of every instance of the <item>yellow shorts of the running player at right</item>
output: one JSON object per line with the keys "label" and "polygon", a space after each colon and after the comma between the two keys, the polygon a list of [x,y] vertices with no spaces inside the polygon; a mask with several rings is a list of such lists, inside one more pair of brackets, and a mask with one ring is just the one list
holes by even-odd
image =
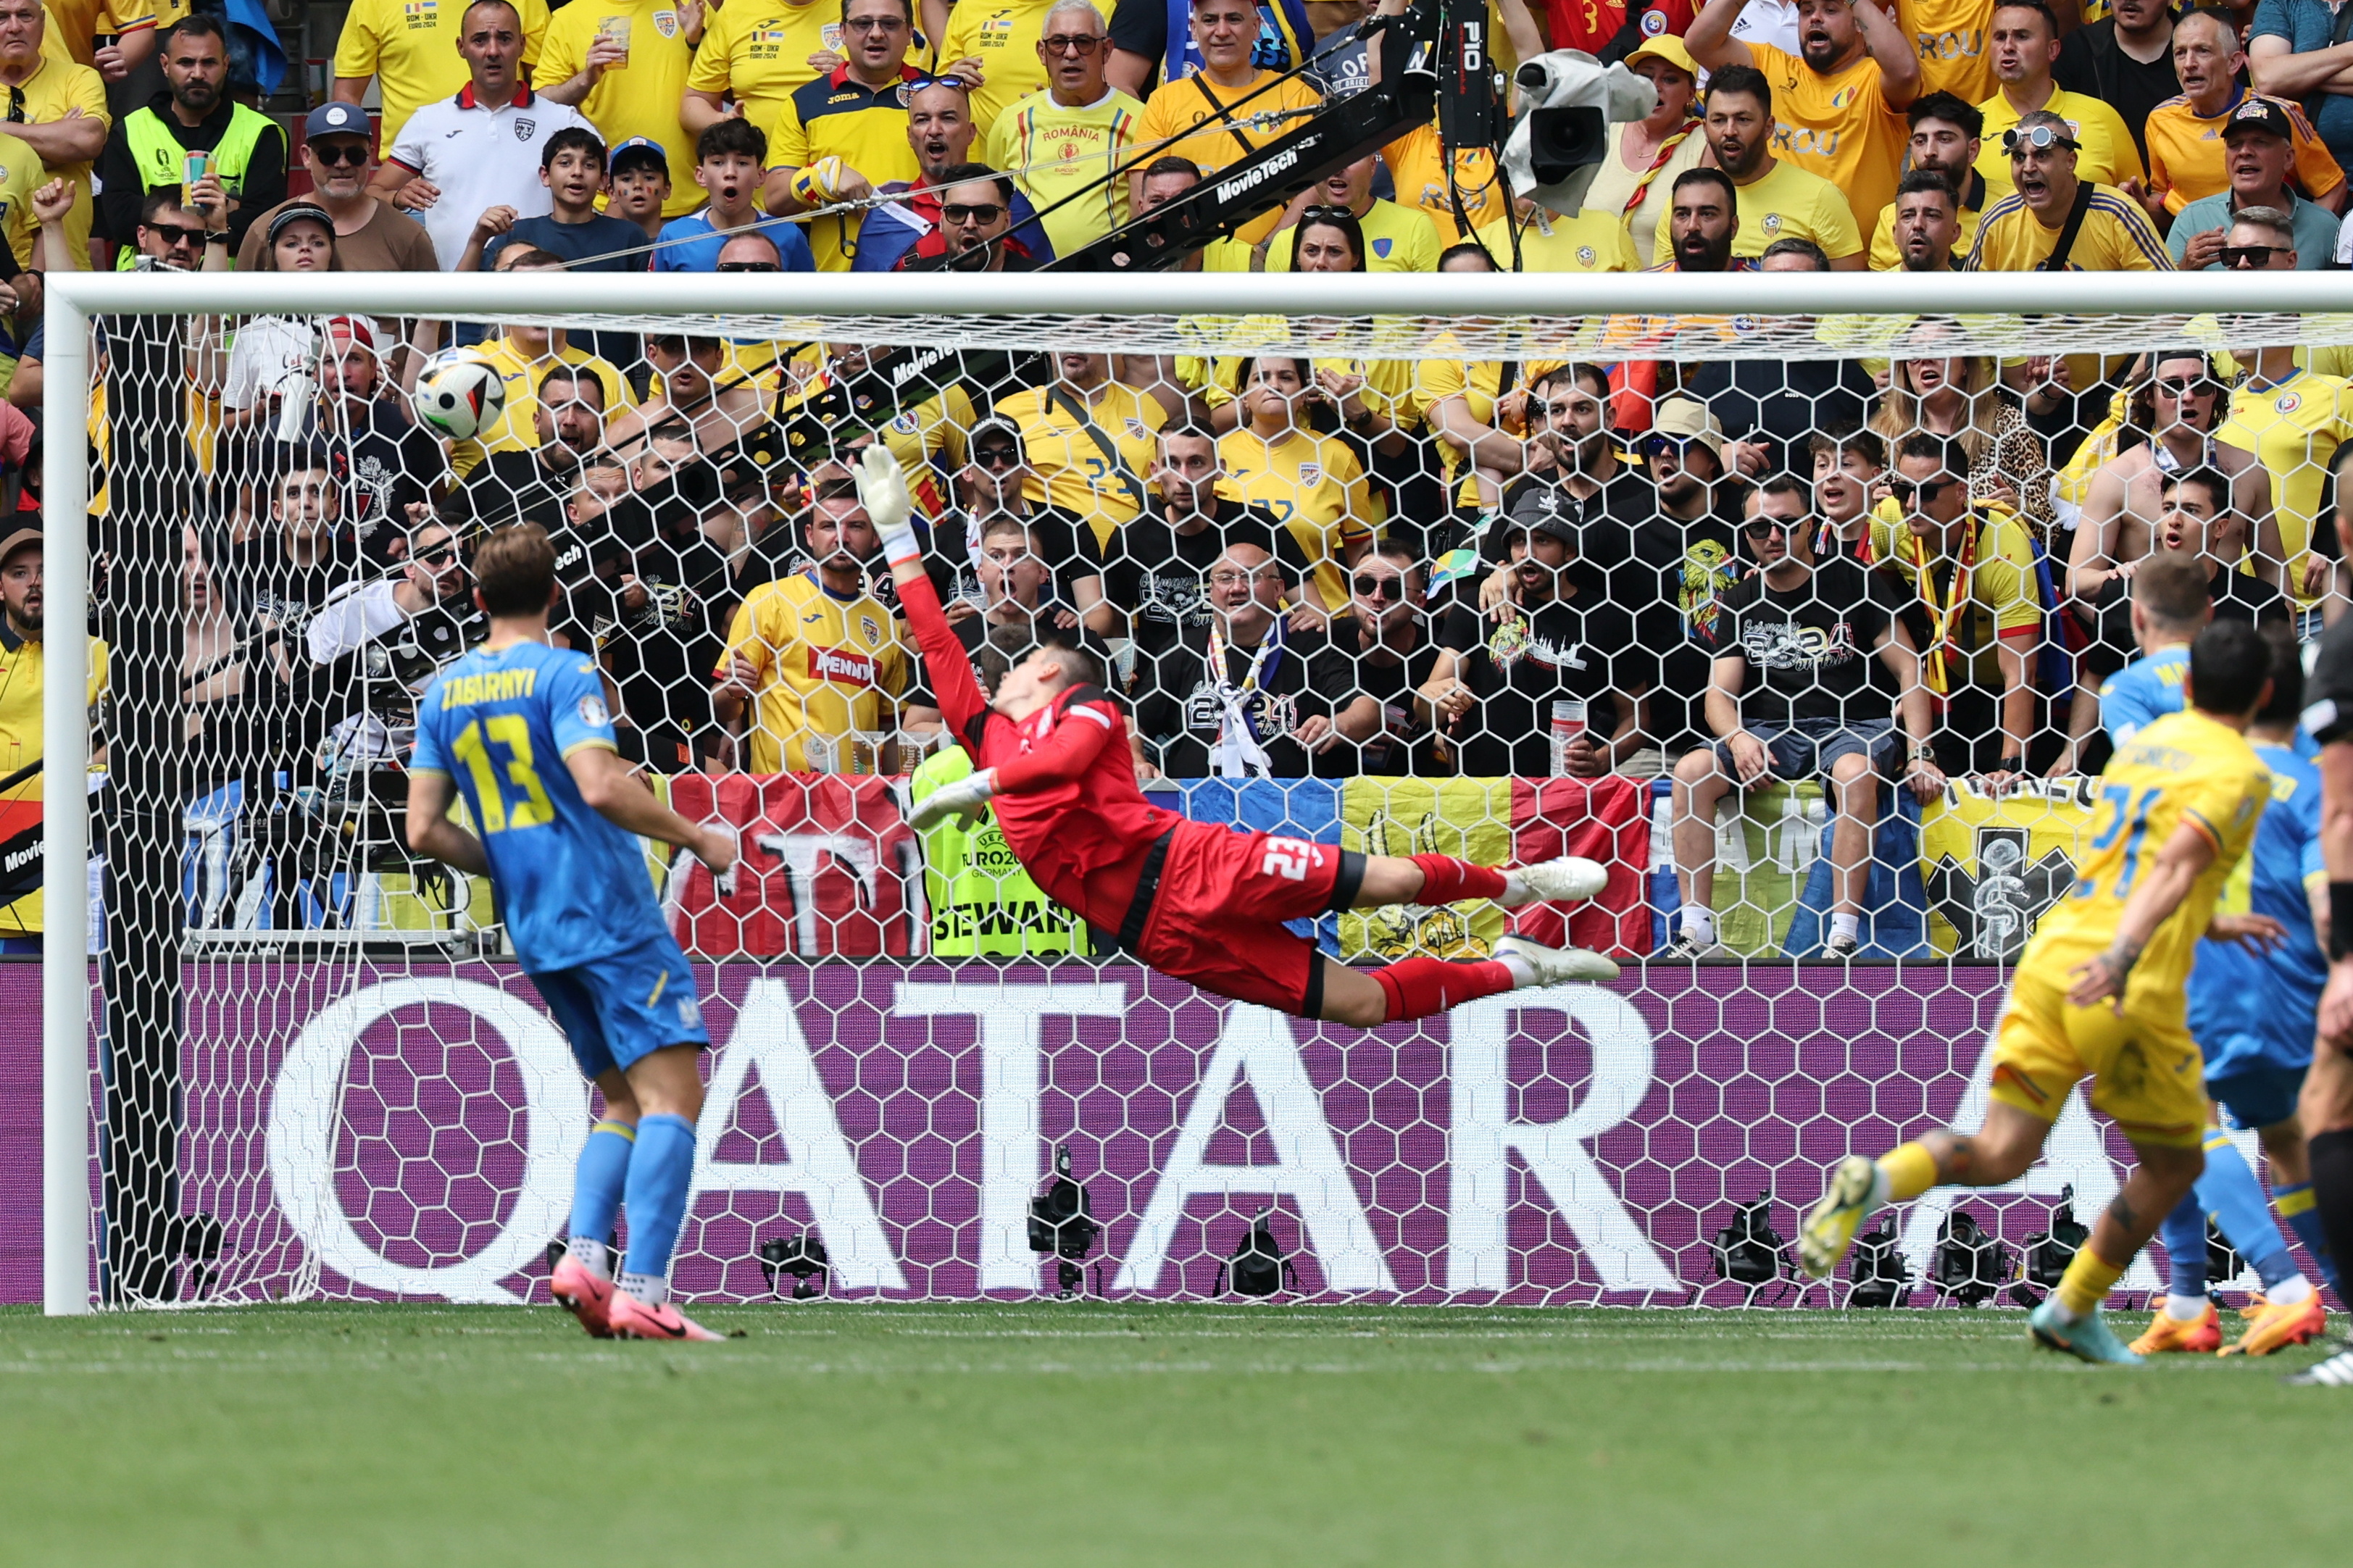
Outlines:
{"label": "yellow shorts of the running player at right", "polygon": [[2137,1144],[2195,1149],[2205,1132],[2205,1062],[2181,1019],[2071,1008],[2066,986],[2019,970],[1993,1026],[1993,1097],[2059,1121],[2078,1081]]}

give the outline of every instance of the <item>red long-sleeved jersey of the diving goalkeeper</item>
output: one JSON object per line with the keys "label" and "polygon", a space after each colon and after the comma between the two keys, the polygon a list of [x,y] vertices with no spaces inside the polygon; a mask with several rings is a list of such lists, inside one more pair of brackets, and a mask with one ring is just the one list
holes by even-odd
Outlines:
{"label": "red long-sleeved jersey of the diving goalkeeper", "polygon": [[1049,899],[1118,930],[1125,897],[1099,883],[1096,892],[1113,897],[1096,902],[1118,902],[1118,909],[1089,909],[1087,878],[1134,862],[1184,822],[1136,789],[1120,704],[1099,685],[1073,685],[1021,723],[993,713],[932,582],[899,584],[899,605],[922,647],[948,732],[972,753],[974,768],[998,770],[991,808],[1005,845]]}

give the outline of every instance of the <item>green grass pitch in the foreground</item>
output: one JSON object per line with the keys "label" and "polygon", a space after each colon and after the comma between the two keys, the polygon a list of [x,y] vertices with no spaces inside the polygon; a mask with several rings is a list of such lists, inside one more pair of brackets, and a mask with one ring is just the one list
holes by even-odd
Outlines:
{"label": "green grass pitch in the foreground", "polygon": [[[2129,1314],[2137,1318],[2139,1314]],[[0,1311],[12,1563],[2348,1561],[2353,1391],[2019,1311]]]}

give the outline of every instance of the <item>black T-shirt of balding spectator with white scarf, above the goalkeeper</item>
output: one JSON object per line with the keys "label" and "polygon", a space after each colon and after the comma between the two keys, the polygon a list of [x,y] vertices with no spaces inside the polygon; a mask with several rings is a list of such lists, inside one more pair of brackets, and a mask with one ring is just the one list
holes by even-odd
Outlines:
{"label": "black T-shirt of balding spectator with white scarf, above the goalkeeper", "polygon": [[[1280,638],[1280,640],[1278,640]],[[1252,763],[1252,777],[1304,779],[1308,753],[1292,739],[1301,720],[1332,716],[1332,692],[1320,690],[1315,669],[1329,640],[1320,631],[1275,626],[1257,647],[1226,645],[1221,680],[1249,687],[1242,713],[1266,753]],[[1261,657],[1264,655],[1264,657]],[[1144,756],[1158,760],[1172,779],[1202,779],[1217,772],[1212,749],[1226,720],[1226,704],[1209,678],[1209,629],[1188,629],[1155,657],[1136,657],[1136,735]],[[1158,756],[1153,756],[1158,751]]]}

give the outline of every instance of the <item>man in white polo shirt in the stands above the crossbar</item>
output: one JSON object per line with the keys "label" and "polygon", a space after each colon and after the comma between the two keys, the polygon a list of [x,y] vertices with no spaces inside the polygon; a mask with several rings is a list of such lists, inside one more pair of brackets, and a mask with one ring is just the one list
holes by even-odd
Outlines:
{"label": "man in white polo shirt in the stands above the crossbar", "polygon": [[565,104],[522,85],[522,21],[508,0],[475,0],[456,52],[473,80],[454,99],[419,106],[400,127],[391,158],[367,184],[433,235],[440,268],[466,254],[475,219],[492,207],[546,217],[553,198],[539,179],[539,148],[555,132],[593,125]]}

